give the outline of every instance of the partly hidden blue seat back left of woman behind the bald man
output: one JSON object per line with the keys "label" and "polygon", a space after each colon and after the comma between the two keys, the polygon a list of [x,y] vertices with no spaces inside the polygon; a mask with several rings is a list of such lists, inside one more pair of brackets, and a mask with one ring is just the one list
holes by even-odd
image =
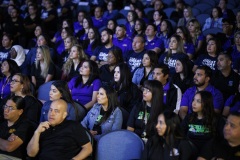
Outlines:
{"label": "partly hidden blue seat back left of woman behind the bald man", "polygon": [[51,88],[51,85],[54,81],[50,81],[47,83],[42,84],[39,88],[38,88],[38,94],[37,94],[37,98],[39,100],[43,100],[43,101],[49,101],[49,91]]}

